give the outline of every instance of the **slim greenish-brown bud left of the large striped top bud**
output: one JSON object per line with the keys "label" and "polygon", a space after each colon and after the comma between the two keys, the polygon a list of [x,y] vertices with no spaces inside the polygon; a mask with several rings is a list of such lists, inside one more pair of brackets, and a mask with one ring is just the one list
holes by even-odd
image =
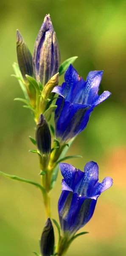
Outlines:
{"label": "slim greenish-brown bud left of the large striped top bud", "polygon": [[33,76],[32,67],[32,55],[29,51],[25,41],[23,40],[19,30],[17,29],[16,35],[16,45],[17,45],[17,60],[22,73],[23,79],[26,80],[25,75]]}

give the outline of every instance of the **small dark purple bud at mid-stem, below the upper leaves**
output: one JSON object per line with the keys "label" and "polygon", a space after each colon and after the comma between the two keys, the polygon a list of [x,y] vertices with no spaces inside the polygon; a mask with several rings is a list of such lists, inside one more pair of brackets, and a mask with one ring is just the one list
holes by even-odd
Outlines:
{"label": "small dark purple bud at mid-stem, below the upper leaves", "polygon": [[40,115],[39,122],[36,128],[36,143],[40,154],[49,155],[51,151],[51,135],[48,127],[48,123],[45,117]]}

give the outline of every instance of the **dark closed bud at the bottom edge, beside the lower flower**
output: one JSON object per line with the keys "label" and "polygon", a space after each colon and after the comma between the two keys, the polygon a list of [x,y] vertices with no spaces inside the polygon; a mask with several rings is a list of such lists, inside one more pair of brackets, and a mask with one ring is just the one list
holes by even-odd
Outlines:
{"label": "dark closed bud at the bottom edge, beside the lower flower", "polygon": [[42,256],[50,256],[53,255],[54,250],[54,230],[53,225],[48,218],[46,221],[45,227],[42,232],[41,241],[40,241],[40,248]]}

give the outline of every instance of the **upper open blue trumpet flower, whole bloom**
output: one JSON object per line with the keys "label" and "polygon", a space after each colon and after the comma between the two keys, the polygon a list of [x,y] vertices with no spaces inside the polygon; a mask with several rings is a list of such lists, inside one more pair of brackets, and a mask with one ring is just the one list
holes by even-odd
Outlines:
{"label": "upper open blue trumpet flower, whole bloom", "polygon": [[104,91],[98,96],[102,74],[103,71],[91,71],[84,81],[70,64],[62,87],[56,86],[52,91],[59,94],[55,111],[57,139],[66,142],[83,131],[95,106],[111,95]]}

